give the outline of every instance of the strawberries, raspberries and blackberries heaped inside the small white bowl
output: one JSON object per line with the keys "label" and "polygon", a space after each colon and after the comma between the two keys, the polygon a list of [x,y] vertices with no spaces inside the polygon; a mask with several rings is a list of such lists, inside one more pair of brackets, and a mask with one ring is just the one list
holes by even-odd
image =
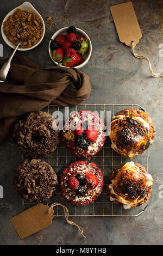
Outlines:
{"label": "strawberries, raspberries and blackberries heaped inside the small white bowl", "polygon": [[83,56],[89,50],[90,40],[77,35],[77,30],[73,26],[67,28],[66,33],[57,36],[54,40],[51,39],[52,58],[58,62],[58,66],[78,66],[85,61]]}

